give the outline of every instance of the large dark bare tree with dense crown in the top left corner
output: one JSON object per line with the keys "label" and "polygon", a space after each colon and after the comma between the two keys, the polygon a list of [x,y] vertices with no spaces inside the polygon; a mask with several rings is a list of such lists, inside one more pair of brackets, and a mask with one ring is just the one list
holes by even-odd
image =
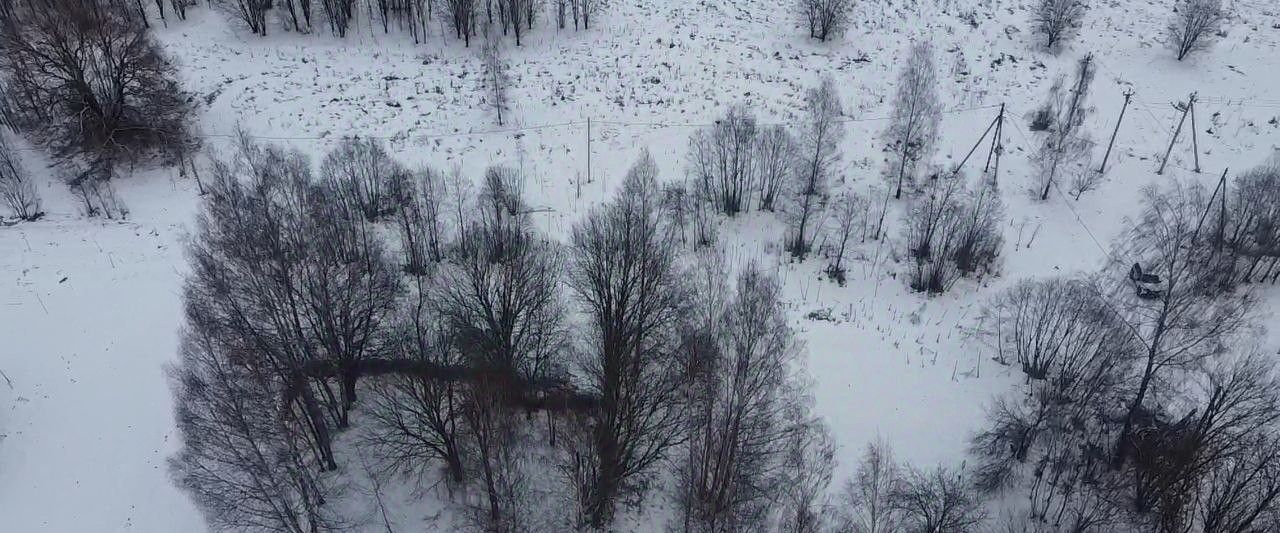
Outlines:
{"label": "large dark bare tree with dense crown in the top left corner", "polygon": [[15,4],[0,18],[0,72],[15,126],[63,160],[129,161],[189,142],[173,64],[118,4]]}

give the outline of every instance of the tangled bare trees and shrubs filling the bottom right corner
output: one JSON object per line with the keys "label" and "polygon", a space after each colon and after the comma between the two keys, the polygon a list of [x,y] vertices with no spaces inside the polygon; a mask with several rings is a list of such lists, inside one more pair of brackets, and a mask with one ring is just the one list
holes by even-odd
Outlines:
{"label": "tangled bare trees and shrubs filling the bottom right corner", "polygon": [[1280,168],[1236,191],[1148,188],[1111,268],[988,305],[1025,377],[973,443],[977,484],[1025,504],[1009,530],[1280,530],[1280,382],[1248,341],[1248,283],[1280,275]]}

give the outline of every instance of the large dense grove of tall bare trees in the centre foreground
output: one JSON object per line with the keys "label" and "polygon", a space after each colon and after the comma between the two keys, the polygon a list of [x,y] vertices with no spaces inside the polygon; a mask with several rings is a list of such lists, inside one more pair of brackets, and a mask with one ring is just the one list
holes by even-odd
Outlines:
{"label": "large dense grove of tall bare trees in the centre foreground", "polygon": [[314,173],[242,138],[209,174],[172,469],[212,525],[343,525],[334,441],[356,410],[361,460],[443,479],[476,530],[550,528],[531,518],[535,454],[575,502],[544,519],[572,527],[608,527],[667,465],[689,530],[822,514],[832,445],[777,282],[749,265],[730,287],[717,254],[690,260],[648,155],[567,247],[502,167],[471,193],[370,141]]}

